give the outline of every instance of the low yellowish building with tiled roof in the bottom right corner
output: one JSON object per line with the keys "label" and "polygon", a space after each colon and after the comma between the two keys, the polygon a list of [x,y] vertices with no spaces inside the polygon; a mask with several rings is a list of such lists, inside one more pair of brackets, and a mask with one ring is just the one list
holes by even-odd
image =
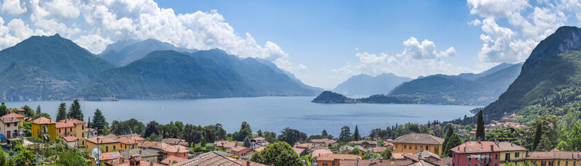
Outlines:
{"label": "low yellowish building with tiled roof in the bottom right corner", "polygon": [[526,162],[539,166],[581,164],[580,151],[534,151],[528,154]]}

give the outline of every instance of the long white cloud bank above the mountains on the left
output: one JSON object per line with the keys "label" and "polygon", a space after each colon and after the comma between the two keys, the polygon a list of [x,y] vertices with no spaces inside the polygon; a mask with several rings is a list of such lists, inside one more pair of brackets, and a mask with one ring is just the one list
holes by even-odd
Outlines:
{"label": "long white cloud bank above the mountains on the left", "polygon": [[[1,39],[0,49],[30,35],[55,33],[93,53],[118,40],[153,38],[184,48],[221,48],[241,57],[268,59],[286,70],[301,70],[274,42],[259,44],[250,33],[239,35],[217,10],[176,14],[153,0],[5,0],[1,9],[19,21],[0,27],[10,35]],[[23,20],[28,22],[22,24]]]}

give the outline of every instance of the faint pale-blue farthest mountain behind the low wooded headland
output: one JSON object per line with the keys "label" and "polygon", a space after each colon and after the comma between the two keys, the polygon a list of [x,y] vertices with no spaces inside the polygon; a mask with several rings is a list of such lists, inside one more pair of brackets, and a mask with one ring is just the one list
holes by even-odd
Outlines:
{"label": "faint pale-blue farthest mountain behind the low wooded headland", "polygon": [[371,75],[355,75],[339,84],[332,91],[343,95],[376,95],[387,94],[403,82],[413,80],[409,77],[399,77],[393,73],[383,73],[376,77]]}

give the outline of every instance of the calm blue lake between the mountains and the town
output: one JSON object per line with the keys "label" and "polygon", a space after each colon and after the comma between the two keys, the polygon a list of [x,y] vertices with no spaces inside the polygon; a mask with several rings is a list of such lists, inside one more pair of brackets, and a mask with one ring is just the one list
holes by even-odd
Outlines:
{"label": "calm blue lake between the mountains and the town", "polygon": [[[136,118],[147,124],[179,120],[189,124],[220,123],[228,133],[238,131],[241,122],[248,122],[252,131],[277,131],[285,127],[298,129],[308,135],[326,129],[338,136],[343,126],[359,126],[362,135],[371,129],[407,122],[425,124],[428,120],[452,120],[472,116],[477,106],[428,104],[316,104],[314,97],[222,98],[202,100],[120,100],[117,102],[82,101],[85,121],[101,109],[107,121]],[[72,101],[66,101],[67,109]],[[43,112],[56,117],[60,101],[6,102],[7,107],[20,108],[27,104],[33,109],[40,105]]]}

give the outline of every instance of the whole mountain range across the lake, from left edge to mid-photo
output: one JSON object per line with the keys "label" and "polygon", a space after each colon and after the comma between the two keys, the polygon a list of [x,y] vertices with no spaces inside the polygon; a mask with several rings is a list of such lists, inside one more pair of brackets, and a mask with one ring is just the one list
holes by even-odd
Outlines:
{"label": "whole mountain range across the lake, from left edge to mid-photo", "polygon": [[33,36],[0,51],[0,100],[231,98],[322,91],[261,61],[154,39],[117,42],[94,55],[59,35]]}

